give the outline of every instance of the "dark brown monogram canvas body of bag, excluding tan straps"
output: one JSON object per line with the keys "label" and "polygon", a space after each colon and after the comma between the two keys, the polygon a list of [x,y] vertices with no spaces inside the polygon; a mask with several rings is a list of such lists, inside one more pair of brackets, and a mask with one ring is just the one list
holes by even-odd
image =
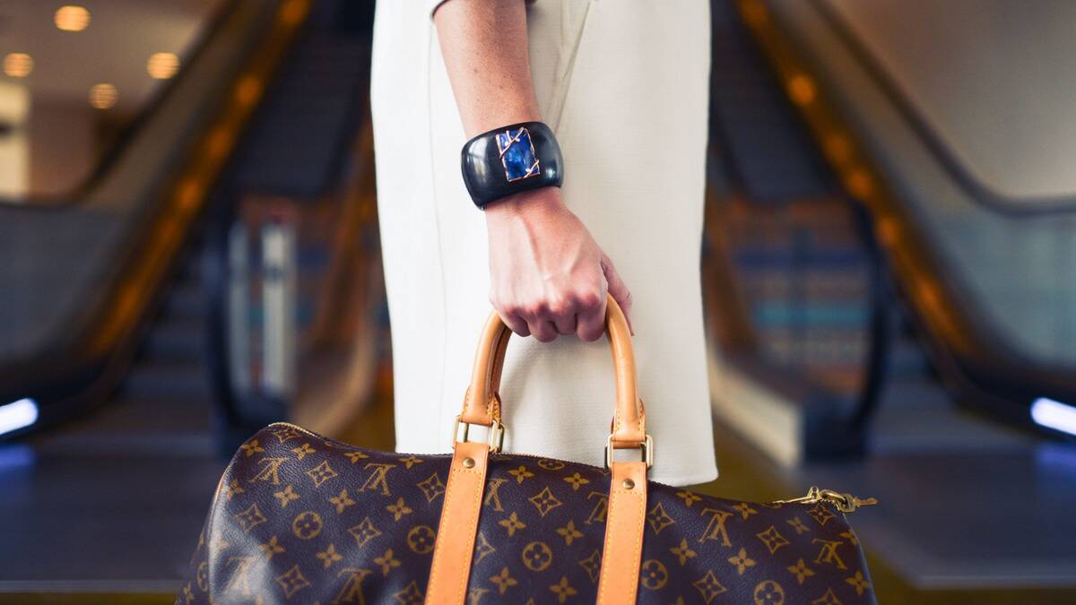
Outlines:
{"label": "dark brown monogram canvas body of bag, excluding tan straps", "polygon": [[[450,462],[268,426],[222,477],[176,603],[421,604]],[[468,603],[594,603],[608,491],[601,468],[491,455]],[[639,577],[624,579],[639,603],[875,603],[827,503],[648,493]]]}

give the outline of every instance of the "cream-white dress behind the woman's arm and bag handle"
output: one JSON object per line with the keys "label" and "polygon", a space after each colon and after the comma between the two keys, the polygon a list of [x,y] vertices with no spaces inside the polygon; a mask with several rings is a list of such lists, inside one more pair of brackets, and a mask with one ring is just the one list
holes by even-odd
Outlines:
{"label": "cream-white dress behind the woman's arm and bag handle", "polygon": [[[450,0],[451,1],[451,0]],[[371,107],[392,322],[396,447],[445,452],[487,313],[485,219],[430,18],[440,0],[378,2]],[[532,75],[565,159],[565,203],[632,291],[650,477],[717,477],[699,253],[710,70],[708,0],[537,0]],[[605,339],[513,337],[506,450],[603,464],[613,409]]]}

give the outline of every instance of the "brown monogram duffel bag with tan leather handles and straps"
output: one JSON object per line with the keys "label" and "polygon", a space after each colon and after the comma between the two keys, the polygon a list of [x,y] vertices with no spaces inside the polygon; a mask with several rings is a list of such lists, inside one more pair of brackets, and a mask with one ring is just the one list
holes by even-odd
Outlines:
{"label": "brown monogram duffel bag with tan leather handles and straps", "polygon": [[[606,468],[500,451],[510,332],[493,313],[451,455],[261,430],[221,479],[178,603],[874,603],[845,519],[870,502],[812,488],[754,504],[648,482],[660,451],[611,298],[606,328],[617,376]],[[485,441],[468,440],[473,426]],[[615,460],[618,449],[641,460]]]}

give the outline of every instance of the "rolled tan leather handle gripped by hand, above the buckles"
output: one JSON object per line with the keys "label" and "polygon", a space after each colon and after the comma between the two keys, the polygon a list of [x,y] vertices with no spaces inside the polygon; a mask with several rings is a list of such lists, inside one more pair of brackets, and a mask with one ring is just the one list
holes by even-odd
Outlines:
{"label": "rolled tan leather handle gripped by hand, above the buckles", "polygon": [[[646,411],[639,399],[635,380],[635,352],[632,332],[620,306],[608,297],[606,304],[606,335],[612,351],[613,371],[617,377],[617,408],[612,421],[611,441],[614,448],[636,448],[646,441]],[[464,397],[459,420],[468,424],[493,425],[500,422],[500,374],[505,365],[505,351],[512,330],[496,311],[490,313],[479,340],[471,370],[471,382]]]}

